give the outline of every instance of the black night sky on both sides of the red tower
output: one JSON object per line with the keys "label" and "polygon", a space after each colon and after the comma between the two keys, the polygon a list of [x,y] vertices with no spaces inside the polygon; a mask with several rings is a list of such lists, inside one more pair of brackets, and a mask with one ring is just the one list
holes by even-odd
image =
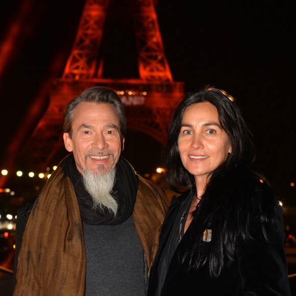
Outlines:
{"label": "black night sky on both sides of the red tower", "polygon": [[[82,0],[26,1],[32,6],[23,34],[0,72],[0,160],[9,157],[5,147],[42,82],[61,77],[83,8]],[[23,3],[0,2],[0,42]],[[254,169],[265,174],[278,196],[296,204],[296,186],[290,186],[296,183],[293,1],[159,0],[156,10],[174,80],[184,81],[185,91],[211,84],[236,98],[255,136]],[[109,22],[110,32],[125,27],[123,21]],[[116,45],[109,60],[118,54],[126,57],[116,71],[131,76],[133,64],[128,61],[134,48],[129,38],[108,38]],[[57,56],[59,63],[53,64]],[[154,154],[160,145],[155,147],[150,150]],[[152,154],[149,149],[135,151],[135,158],[149,159]]]}

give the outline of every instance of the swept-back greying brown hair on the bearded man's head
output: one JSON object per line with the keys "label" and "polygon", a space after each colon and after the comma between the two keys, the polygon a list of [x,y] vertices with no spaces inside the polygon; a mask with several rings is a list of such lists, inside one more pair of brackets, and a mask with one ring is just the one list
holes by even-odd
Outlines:
{"label": "swept-back greying brown hair on the bearded man's head", "polygon": [[83,102],[97,104],[111,104],[117,111],[120,122],[120,138],[122,139],[127,130],[125,107],[117,93],[107,87],[94,86],[86,89],[81,95],[72,98],[66,105],[63,113],[63,130],[72,138],[72,121],[75,108]]}

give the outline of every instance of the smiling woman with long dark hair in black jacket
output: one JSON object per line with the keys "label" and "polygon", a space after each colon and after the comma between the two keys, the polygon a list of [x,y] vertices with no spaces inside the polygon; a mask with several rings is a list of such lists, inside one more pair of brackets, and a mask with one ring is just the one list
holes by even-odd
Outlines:
{"label": "smiling woman with long dark hair in black jacket", "polygon": [[290,295],[282,208],[250,170],[252,134],[234,99],[210,87],[187,93],[164,155],[182,195],[162,226],[149,295]]}

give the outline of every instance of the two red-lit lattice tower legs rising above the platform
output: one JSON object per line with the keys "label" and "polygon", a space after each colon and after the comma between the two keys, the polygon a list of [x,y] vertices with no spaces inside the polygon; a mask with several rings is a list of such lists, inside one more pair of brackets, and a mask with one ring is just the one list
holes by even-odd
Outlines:
{"label": "two red-lit lattice tower legs rising above the platform", "polygon": [[[117,9],[133,16],[142,81],[172,82],[152,0],[117,0]],[[103,59],[98,52],[103,37],[109,0],[85,3],[76,40],[68,58],[63,79],[102,78]],[[128,11],[127,11],[128,9]]]}

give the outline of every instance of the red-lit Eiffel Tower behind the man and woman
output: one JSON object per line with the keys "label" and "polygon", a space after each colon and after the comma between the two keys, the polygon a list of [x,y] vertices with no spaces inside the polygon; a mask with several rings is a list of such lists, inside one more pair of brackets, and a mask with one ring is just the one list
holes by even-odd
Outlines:
{"label": "red-lit Eiffel Tower behind the man and woman", "polygon": [[[133,23],[136,78],[106,77],[108,64],[106,52],[102,50],[105,27],[108,20],[110,22],[112,17],[116,20],[119,16],[129,17]],[[119,30],[120,23],[117,27]],[[120,40],[117,46],[120,51]],[[51,82],[50,103],[24,145],[18,164],[29,164],[30,168],[40,170],[53,165],[55,155],[63,147],[61,118],[64,106],[91,86],[107,86],[118,93],[126,107],[128,130],[163,142],[172,109],[184,93],[184,83],[172,79],[153,0],[85,1],[62,78]]]}

